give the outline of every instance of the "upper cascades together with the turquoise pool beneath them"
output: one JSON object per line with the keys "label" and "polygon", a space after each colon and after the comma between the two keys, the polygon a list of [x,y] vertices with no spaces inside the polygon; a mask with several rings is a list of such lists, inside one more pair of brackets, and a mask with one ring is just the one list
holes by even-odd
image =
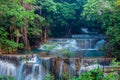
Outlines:
{"label": "upper cascades together with the turquoise pool beneath them", "polygon": [[[102,57],[104,52],[100,49],[105,44],[103,35],[72,35],[73,38],[49,39],[48,43],[40,46],[40,50],[47,50],[50,54],[63,56],[61,51],[68,50],[74,57]],[[57,54],[56,54],[57,53]]]}

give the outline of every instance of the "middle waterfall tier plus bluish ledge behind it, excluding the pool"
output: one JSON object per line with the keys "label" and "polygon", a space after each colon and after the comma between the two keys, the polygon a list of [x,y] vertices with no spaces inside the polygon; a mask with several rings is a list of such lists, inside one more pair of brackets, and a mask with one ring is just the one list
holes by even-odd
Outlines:
{"label": "middle waterfall tier plus bluish ledge behind it, excluding the pool", "polygon": [[[68,49],[70,51],[98,50],[105,44],[103,35],[72,35],[73,38],[49,39],[48,44],[52,45],[52,50]],[[46,43],[47,44],[47,43]],[[45,50],[46,45],[41,45],[39,49]]]}

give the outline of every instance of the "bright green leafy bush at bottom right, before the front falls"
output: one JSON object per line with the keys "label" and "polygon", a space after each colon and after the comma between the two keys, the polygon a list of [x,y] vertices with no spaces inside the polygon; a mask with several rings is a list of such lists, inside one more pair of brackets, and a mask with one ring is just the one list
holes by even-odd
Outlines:
{"label": "bright green leafy bush at bottom right, before the front falls", "polygon": [[78,78],[74,77],[71,80],[119,80],[120,75],[115,73],[110,73],[105,75],[99,69],[94,69],[83,73]]}

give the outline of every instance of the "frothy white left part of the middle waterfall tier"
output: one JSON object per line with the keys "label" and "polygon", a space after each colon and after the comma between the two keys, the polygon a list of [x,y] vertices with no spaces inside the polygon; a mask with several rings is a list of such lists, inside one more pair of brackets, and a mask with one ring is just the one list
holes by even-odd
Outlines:
{"label": "frothy white left part of the middle waterfall tier", "polygon": [[63,49],[67,49],[70,51],[79,50],[79,47],[77,46],[77,41],[75,39],[51,39],[48,42],[49,44],[43,44],[38,49],[47,50],[45,47],[46,45],[53,47],[53,44],[55,44],[53,49],[50,50],[51,52],[55,52]]}

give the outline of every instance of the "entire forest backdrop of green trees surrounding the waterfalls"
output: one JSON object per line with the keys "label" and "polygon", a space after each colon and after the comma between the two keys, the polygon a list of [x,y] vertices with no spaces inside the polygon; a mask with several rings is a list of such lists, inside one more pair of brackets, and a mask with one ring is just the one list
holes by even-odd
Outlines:
{"label": "entire forest backdrop of green trees surrounding the waterfalls", "polygon": [[[86,24],[87,23],[87,24]],[[106,53],[120,59],[120,0],[1,0],[0,51],[30,50],[47,37],[106,34]]]}

